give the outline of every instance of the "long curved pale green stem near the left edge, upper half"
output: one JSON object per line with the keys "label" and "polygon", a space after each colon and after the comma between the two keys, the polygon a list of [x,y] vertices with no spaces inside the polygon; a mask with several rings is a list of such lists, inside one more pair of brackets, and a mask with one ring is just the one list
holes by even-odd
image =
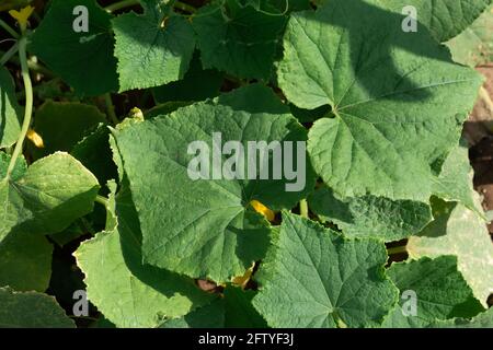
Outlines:
{"label": "long curved pale green stem near the left edge, upper half", "polygon": [[27,67],[27,38],[23,36],[19,40],[19,59],[21,60],[21,72],[22,80],[24,82],[25,90],[25,109],[24,109],[24,120],[22,122],[21,133],[19,135],[18,142],[15,143],[15,149],[12,153],[12,158],[7,170],[5,178],[9,179],[12,171],[15,167],[19,155],[22,153],[22,148],[24,145],[25,136],[30,129],[31,118],[33,116],[33,84],[31,82],[30,69]]}

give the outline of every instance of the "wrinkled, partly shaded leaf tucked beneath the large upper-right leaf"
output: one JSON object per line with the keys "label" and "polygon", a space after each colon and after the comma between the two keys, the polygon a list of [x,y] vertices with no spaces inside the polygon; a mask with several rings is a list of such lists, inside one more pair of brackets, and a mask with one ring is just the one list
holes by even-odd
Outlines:
{"label": "wrinkled, partly shaded leaf tucked beneath the large upper-right leaf", "polygon": [[432,210],[424,202],[375,196],[339,198],[330,188],[317,190],[309,203],[314,213],[335,223],[347,236],[399,241],[432,221]]}

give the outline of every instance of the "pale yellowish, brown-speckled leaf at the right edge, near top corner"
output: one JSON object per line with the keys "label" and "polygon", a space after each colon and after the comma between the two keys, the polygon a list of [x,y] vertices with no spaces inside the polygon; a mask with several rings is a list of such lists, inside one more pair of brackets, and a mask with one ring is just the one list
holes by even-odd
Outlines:
{"label": "pale yellowish, brown-speckled leaf at the right edge, near top corner", "polygon": [[493,61],[493,7],[447,43],[455,61],[471,67]]}

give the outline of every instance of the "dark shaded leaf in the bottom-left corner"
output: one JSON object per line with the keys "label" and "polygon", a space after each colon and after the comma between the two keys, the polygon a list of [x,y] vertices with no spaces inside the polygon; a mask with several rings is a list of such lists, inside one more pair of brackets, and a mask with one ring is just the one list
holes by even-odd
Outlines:
{"label": "dark shaded leaf in the bottom-left corner", "polygon": [[0,328],[74,328],[55,298],[0,288]]}

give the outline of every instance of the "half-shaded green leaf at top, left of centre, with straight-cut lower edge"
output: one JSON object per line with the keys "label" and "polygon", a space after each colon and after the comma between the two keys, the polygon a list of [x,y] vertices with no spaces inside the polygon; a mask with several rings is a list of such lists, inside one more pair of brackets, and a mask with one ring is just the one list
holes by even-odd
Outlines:
{"label": "half-shaded green leaf at top, left of centre, with straight-cut lower edge", "polygon": [[112,21],[119,91],[153,88],[180,80],[195,48],[190,23],[159,0],[141,0],[145,13]]}

